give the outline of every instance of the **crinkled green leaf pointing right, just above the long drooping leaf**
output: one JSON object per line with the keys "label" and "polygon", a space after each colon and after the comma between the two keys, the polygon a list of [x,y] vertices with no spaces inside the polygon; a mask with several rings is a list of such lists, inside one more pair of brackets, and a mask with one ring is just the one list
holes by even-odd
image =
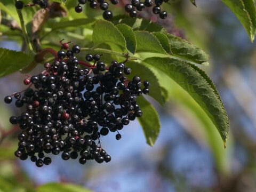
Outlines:
{"label": "crinkled green leaf pointing right, just above the long drooping leaf", "polygon": [[191,45],[184,39],[166,34],[169,38],[172,54],[190,63],[209,65],[209,55],[195,45]]}

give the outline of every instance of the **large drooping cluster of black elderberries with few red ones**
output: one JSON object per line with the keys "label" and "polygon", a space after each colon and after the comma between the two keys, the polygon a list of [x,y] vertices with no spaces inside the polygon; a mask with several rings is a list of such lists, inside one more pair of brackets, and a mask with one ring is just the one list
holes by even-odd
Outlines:
{"label": "large drooping cluster of black elderberries with few red ones", "polygon": [[119,130],[142,116],[137,98],[149,93],[150,84],[139,76],[126,78],[131,73],[125,66],[129,59],[114,60],[108,68],[101,55],[87,54],[84,62],[74,56],[79,52],[79,46],[69,50],[63,43],[52,64],[45,63],[41,74],[24,79],[25,91],[5,97],[5,103],[15,99],[15,106],[25,110],[10,117],[22,130],[14,153],[21,160],[30,157],[41,167],[51,164],[47,154],[61,153],[62,159],[79,158],[81,164],[90,159],[109,162],[100,138],[115,132],[116,140],[121,139]]}

